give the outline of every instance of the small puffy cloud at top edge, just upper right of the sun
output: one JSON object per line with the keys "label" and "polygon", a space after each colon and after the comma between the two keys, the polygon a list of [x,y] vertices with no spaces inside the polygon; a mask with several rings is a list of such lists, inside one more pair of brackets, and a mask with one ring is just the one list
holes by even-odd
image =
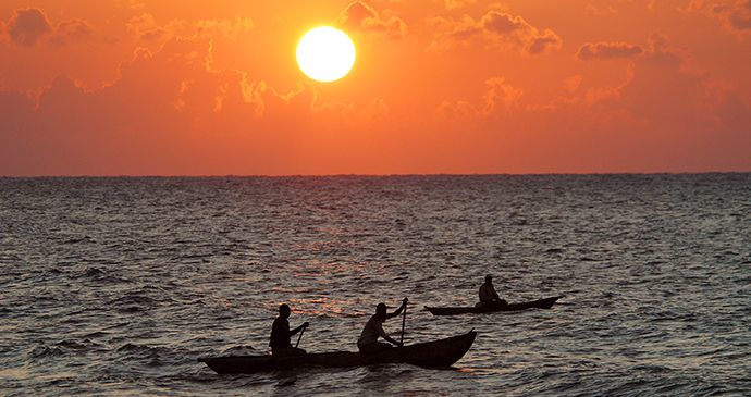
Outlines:
{"label": "small puffy cloud at top edge, just upper right of the sun", "polygon": [[336,17],[335,25],[349,33],[362,33],[370,37],[401,38],[407,25],[401,18],[391,16],[387,21],[361,1],[355,1]]}

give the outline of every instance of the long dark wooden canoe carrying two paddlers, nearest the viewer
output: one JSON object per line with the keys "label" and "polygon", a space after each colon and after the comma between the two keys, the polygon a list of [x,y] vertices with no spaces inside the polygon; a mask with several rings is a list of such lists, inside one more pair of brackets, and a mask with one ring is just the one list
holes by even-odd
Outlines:
{"label": "long dark wooden canoe carrying two paddlers, nearest the viewer", "polygon": [[256,373],[284,371],[298,367],[353,368],[383,363],[409,363],[423,368],[447,368],[458,361],[469,350],[477,332],[473,330],[458,336],[427,342],[376,355],[336,351],[309,353],[303,356],[230,356],[199,358],[217,373]]}

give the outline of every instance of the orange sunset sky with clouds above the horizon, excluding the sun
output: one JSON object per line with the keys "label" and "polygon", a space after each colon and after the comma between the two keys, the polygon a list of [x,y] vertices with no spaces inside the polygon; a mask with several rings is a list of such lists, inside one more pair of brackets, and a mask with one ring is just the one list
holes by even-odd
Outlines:
{"label": "orange sunset sky with clouds above the horizon, excluding the sun", "polygon": [[0,2],[0,176],[730,171],[751,0]]}

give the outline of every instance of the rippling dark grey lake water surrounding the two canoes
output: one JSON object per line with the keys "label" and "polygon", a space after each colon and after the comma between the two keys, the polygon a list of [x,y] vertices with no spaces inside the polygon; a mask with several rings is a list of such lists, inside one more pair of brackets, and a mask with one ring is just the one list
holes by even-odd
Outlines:
{"label": "rippling dark grey lake water surrounding the two canoes", "polygon": [[[423,310],[488,273],[564,297]],[[404,297],[407,344],[478,331],[452,369],[196,361],[267,351],[282,302],[355,351]],[[749,396],[750,297],[748,173],[0,178],[3,396]]]}

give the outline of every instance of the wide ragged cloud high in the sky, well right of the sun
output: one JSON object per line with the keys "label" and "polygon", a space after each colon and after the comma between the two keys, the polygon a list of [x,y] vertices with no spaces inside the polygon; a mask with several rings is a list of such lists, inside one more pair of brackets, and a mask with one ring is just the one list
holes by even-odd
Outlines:
{"label": "wide ragged cloud high in the sky, well right of the sun", "polygon": [[521,16],[514,17],[498,11],[490,11],[479,22],[465,16],[458,22],[434,20],[433,24],[448,27],[451,32],[433,41],[428,49],[429,52],[479,42],[492,48],[516,49],[522,54],[535,55],[556,51],[563,45],[561,37],[552,30],[545,29],[540,33]]}

